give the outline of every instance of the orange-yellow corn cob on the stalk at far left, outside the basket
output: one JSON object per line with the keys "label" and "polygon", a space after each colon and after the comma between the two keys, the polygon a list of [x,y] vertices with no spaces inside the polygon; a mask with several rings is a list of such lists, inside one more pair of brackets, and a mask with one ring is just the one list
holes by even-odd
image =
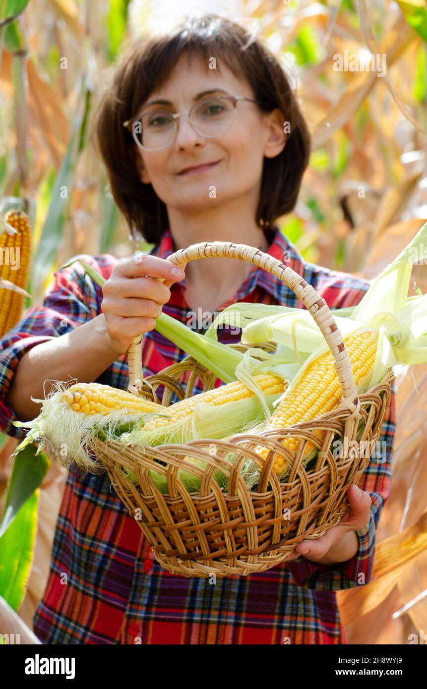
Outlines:
{"label": "orange-yellow corn cob on the stalk at far left, outside the basket", "polygon": [[[4,216],[16,234],[0,234],[1,278],[26,289],[30,271],[31,226],[30,219],[23,211],[10,210]],[[19,268],[12,269],[10,251],[14,251]],[[23,309],[23,295],[12,289],[0,289],[0,337],[17,325]]]}

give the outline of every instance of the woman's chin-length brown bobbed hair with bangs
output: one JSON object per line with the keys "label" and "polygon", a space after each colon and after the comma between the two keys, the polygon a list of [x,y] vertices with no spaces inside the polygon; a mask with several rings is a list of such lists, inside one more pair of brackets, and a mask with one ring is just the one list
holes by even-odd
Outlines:
{"label": "woman's chin-length brown bobbed hair with bangs", "polygon": [[131,119],[150,94],[159,88],[181,54],[198,54],[208,65],[212,55],[242,76],[263,105],[278,107],[289,123],[284,150],[264,159],[256,222],[268,229],[276,218],[297,203],[301,178],[310,155],[310,134],[286,74],[266,45],[244,26],[216,14],[184,17],[166,35],[147,34],[134,41],[115,69],[112,83],[99,106],[95,134],[106,164],[110,189],[134,238],[157,244],[168,227],[166,205],[137,171],[136,144],[123,121]]}

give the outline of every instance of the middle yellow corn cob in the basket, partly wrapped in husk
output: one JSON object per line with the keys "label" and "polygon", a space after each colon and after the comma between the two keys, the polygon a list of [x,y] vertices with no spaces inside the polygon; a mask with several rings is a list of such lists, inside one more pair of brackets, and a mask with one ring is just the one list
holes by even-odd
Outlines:
{"label": "middle yellow corn cob in the basket, partly wrapped in husk", "polygon": [[[286,389],[287,382],[284,382],[283,378],[279,376],[271,376],[263,373],[261,376],[254,376],[254,380],[257,382],[264,395],[275,395]],[[186,416],[194,411],[196,405],[201,402],[211,404],[212,407],[218,407],[227,402],[236,402],[237,400],[244,400],[253,396],[255,396],[255,392],[240,381],[221,385],[219,388],[202,392],[199,395],[193,395],[180,402],[175,402],[171,407],[167,407],[167,409],[164,410],[170,417],[170,420],[164,417],[152,416],[146,424],[144,424],[144,431],[160,428],[161,426],[166,426],[186,418]]]}

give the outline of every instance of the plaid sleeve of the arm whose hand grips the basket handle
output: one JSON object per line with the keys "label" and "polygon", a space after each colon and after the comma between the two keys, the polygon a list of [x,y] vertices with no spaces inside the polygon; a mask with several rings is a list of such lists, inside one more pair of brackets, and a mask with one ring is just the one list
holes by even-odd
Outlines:
{"label": "plaid sleeve of the arm whose hand grips the basket handle", "polygon": [[[110,254],[88,256],[79,254],[70,260],[82,258],[106,279],[111,274],[115,258]],[[85,275],[80,263],[57,270],[46,288],[43,304],[28,309],[17,325],[0,339],[0,431],[23,439],[28,429],[18,428],[12,407],[5,404],[14,372],[23,355],[35,345],[83,325],[101,313],[102,289],[90,276]]]}

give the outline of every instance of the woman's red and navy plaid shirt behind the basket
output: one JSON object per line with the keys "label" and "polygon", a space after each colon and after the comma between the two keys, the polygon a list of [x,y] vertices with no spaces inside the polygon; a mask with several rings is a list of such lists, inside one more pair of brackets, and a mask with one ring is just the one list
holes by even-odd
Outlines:
{"label": "woman's red and navy plaid shirt behind the basket", "polygon": [[[287,261],[315,287],[330,308],[356,305],[369,283],[306,263],[278,228],[268,253]],[[174,251],[169,229],[152,254]],[[286,253],[285,253],[286,252]],[[82,255],[105,278],[117,259]],[[34,345],[63,335],[101,313],[102,290],[75,263],[54,273],[42,306],[31,307],[0,342],[0,430],[18,438],[27,430],[12,426],[13,409],[4,402],[23,354]],[[278,278],[258,267],[221,306],[264,302],[304,308]],[[172,285],[163,311],[187,322],[185,281]],[[238,339],[238,338],[237,338]],[[236,341],[227,329],[221,342]],[[156,331],[143,338],[146,375],[178,362],[183,351]],[[126,389],[126,356],[97,382]],[[75,463],[68,473],[52,546],[48,583],[34,615],[34,631],[46,644],[343,644],[346,643],[336,590],[368,584],[373,567],[375,529],[390,494],[395,435],[395,390],[380,440],[386,456],[370,462],[361,489],[372,497],[370,521],[357,531],[359,550],[347,562],[321,565],[299,557],[262,573],[208,579],[171,575],[153,559],[137,522],[130,517],[106,473],[83,475]],[[383,446],[381,444],[381,446]],[[66,574],[66,577],[63,575]],[[361,576],[361,575],[364,575]],[[63,583],[66,578],[66,585]]]}

